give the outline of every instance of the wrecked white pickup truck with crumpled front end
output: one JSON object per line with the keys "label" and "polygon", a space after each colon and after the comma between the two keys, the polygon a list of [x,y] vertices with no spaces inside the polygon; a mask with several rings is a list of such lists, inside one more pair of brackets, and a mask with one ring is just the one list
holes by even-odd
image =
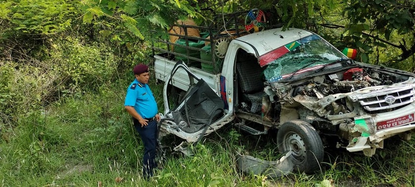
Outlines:
{"label": "wrecked white pickup truck with crumpled front end", "polygon": [[414,74],[355,62],[301,29],[229,40],[217,74],[178,63],[167,50],[154,56],[165,82],[160,137],[194,143],[230,123],[253,135],[275,128],[278,150],[290,151],[300,172],[315,171],[324,148],[372,156],[389,137],[411,138]]}

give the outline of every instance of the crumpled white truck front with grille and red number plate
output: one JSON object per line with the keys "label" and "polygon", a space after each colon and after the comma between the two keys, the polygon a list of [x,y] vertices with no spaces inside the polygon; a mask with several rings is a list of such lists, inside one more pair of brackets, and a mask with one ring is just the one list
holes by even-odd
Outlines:
{"label": "crumpled white truck front with grille and red number plate", "polygon": [[[293,100],[314,112],[304,113],[303,119],[338,126],[338,135],[349,143],[338,144],[338,147],[345,147],[350,152],[363,151],[366,156],[372,156],[377,148],[383,148],[383,140],[395,135],[409,140],[415,130],[413,78],[321,99],[297,95]],[[335,102],[340,100],[345,101],[348,112],[335,112]]]}

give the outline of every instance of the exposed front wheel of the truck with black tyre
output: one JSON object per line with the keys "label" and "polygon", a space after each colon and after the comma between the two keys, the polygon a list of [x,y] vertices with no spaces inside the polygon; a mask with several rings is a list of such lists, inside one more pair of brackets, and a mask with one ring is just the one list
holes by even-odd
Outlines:
{"label": "exposed front wheel of the truck with black tyre", "polygon": [[278,150],[292,150],[294,171],[313,173],[320,168],[324,148],[317,131],[309,123],[292,120],[284,123],[277,133]]}

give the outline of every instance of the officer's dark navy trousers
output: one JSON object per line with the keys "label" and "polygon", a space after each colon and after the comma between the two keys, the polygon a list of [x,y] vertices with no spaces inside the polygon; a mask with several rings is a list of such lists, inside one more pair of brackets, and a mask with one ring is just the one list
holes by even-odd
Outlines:
{"label": "officer's dark navy trousers", "polygon": [[134,128],[140,134],[141,141],[144,144],[143,155],[143,176],[148,179],[153,177],[156,163],[156,146],[157,146],[157,122],[149,121],[147,126],[141,127],[141,124],[134,118]]}

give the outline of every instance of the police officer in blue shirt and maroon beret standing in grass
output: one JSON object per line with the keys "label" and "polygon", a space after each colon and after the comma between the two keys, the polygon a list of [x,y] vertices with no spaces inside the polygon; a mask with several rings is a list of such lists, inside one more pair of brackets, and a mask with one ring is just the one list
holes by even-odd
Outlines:
{"label": "police officer in blue shirt and maroon beret standing in grass", "polygon": [[149,69],[138,64],[133,69],[135,79],[128,86],[124,108],[132,116],[134,128],[141,136],[144,144],[143,175],[149,179],[157,167],[156,144],[157,122],[160,121],[157,103],[148,86]]}

